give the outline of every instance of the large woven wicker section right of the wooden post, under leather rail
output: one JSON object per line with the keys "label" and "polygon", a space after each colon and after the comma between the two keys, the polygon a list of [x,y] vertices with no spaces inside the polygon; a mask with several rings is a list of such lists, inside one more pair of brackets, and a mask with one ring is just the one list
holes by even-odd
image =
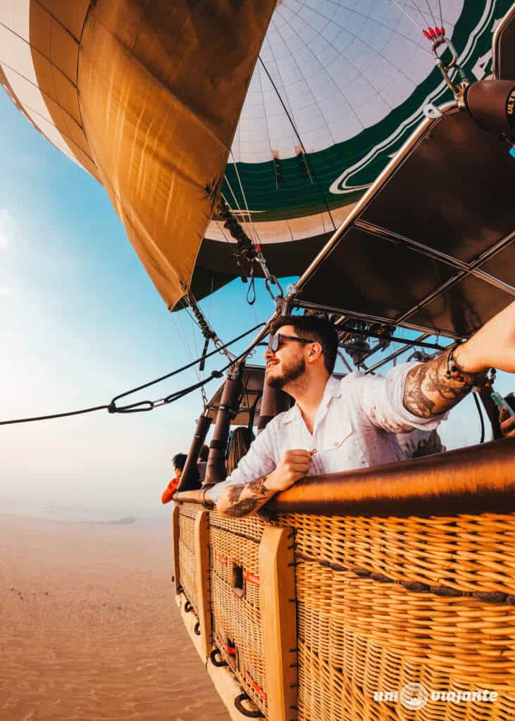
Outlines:
{"label": "large woven wicker section right of the wooden post, under leather rail", "polygon": [[[515,514],[278,522],[296,528],[299,720],[515,718]],[[408,683],[498,699],[374,700]]]}

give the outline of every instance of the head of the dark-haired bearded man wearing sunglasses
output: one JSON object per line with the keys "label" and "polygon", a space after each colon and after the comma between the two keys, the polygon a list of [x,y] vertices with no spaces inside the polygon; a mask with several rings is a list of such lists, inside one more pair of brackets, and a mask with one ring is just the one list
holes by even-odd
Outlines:
{"label": "head of the dark-haired bearded man wearing sunglasses", "polygon": [[265,353],[265,379],[270,386],[286,388],[304,373],[330,376],[338,352],[338,335],[329,320],[313,315],[283,316],[270,328],[273,348]]}

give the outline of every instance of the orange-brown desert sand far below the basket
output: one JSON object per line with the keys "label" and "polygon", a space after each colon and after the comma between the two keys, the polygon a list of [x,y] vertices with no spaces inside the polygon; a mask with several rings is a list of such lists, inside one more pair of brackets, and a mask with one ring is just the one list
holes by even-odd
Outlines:
{"label": "orange-brown desert sand far below the basket", "polygon": [[0,719],[226,721],[173,601],[166,523],[0,516]]}

